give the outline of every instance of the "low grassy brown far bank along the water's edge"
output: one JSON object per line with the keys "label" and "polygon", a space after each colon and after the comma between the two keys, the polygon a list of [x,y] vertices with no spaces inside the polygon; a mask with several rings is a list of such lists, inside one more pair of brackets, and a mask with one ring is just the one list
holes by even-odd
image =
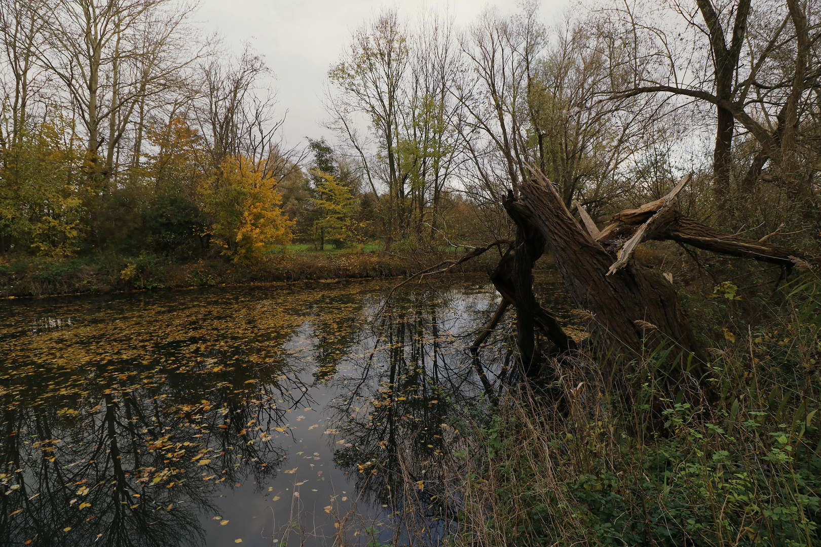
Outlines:
{"label": "low grassy brown far bank along the water's edge", "polygon": [[[452,254],[452,253],[451,253]],[[272,254],[252,265],[222,258],[177,263],[153,254],[94,258],[5,257],[0,259],[0,298],[57,294],[104,294],[127,290],[187,289],[301,280],[407,276],[451,256],[404,258],[383,251]],[[452,273],[485,271],[479,257]]]}

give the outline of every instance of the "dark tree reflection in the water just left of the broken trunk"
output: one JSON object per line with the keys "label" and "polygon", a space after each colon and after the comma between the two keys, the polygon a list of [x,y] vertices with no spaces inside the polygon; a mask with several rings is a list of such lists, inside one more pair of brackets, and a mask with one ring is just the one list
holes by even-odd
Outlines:
{"label": "dark tree reflection in the water just left of the broken trunk", "polygon": [[[335,379],[345,385],[333,404],[345,443],[334,460],[355,474],[360,499],[388,506],[394,538],[435,543],[457,524],[456,508],[441,503],[450,486],[443,457],[459,435],[455,408],[488,404],[464,349],[496,304],[488,291],[410,289],[379,318],[369,352]],[[483,361],[498,378],[504,327],[496,339]]]}

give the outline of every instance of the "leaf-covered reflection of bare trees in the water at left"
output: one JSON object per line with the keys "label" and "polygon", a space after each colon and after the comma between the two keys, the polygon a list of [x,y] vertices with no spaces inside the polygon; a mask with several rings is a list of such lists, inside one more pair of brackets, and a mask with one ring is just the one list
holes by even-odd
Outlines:
{"label": "leaf-covered reflection of bare trees in the water at left", "polygon": [[[115,309],[121,325],[98,317],[71,343],[59,331],[12,339],[0,545],[199,544],[216,490],[276,473],[271,432],[307,391],[276,350],[300,321],[260,337],[143,312],[172,321],[135,325]],[[218,343],[204,330],[221,330]]]}

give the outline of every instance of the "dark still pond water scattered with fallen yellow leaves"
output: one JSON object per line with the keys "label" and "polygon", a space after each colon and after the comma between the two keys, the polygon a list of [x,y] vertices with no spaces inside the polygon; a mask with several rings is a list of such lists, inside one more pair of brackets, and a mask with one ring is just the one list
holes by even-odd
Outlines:
{"label": "dark still pond water scattered with fallen yellow leaves", "polygon": [[[443,535],[486,279],[406,285],[378,317],[396,280],[4,301],[0,545],[366,545],[410,498]],[[506,355],[500,332],[491,381]]]}

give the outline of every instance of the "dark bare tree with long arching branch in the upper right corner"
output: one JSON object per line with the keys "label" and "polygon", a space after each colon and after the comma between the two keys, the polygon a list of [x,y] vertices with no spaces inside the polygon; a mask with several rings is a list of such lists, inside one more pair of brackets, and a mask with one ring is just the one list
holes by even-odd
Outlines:
{"label": "dark bare tree with long arching branch in the upper right corner", "polygon": [[719,206],[732,189],[736,124],[759,148],[739,185],[742,192],[750,191],[770,162],[771,180],[796,198],[810,200],[813,189],[806,178],[796,176],[796,158],[802,118],[814,110],[807,101],[817,94],[808,92],[819,86],[821,27],[811,3],[675,2],[672,13],[680,16],[681,25],[659,24],[669,21],[667,10],[660,4],[648,6],[626,2],[607,10],[625,30],[640,36],[644,46],[636,55],[646,61],[636,68],[633,82],[613,89],[613,95],[668,93],[715,108],[709,123],[716,134],[713,173]]}

